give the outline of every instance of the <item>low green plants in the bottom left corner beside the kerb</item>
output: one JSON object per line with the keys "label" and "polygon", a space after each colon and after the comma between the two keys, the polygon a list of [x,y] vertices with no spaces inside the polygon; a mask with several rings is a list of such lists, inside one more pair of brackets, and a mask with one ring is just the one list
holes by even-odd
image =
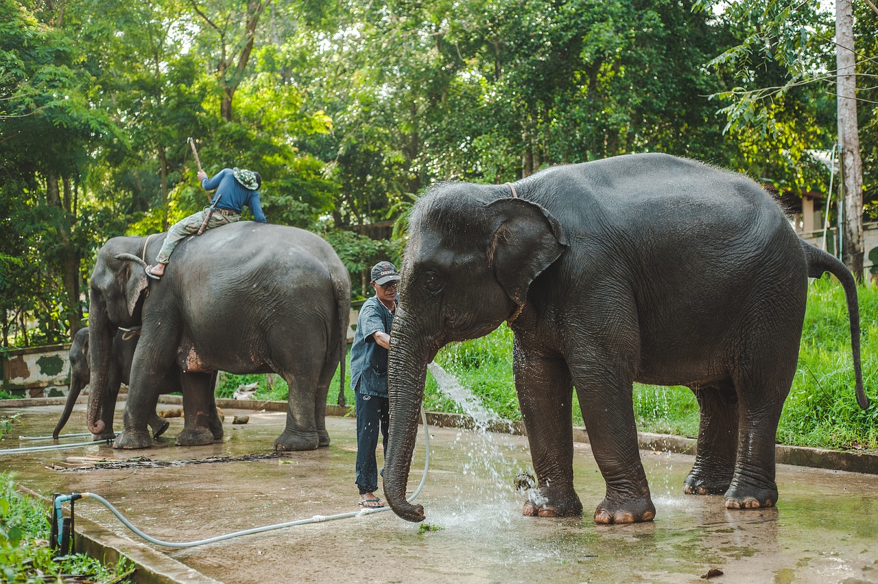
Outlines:
{"label": "low green plants in the bottom left corner beside the kerb", "polygon": [[104,566],[84,554],[55,560],[48,546],[47,509],[18,494],[9,475],[0,473],[0,580],[10,583],[65,581],[68,576],[93,582],[128,582],[130,560]]}

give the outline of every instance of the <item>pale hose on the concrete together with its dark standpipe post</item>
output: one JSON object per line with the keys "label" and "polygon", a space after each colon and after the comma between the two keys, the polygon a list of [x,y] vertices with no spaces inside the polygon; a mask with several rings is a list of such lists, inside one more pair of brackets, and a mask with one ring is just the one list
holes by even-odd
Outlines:
{"label": "pale hose on the concrete together with its dark standpipe post", "polygon": [[[421,489],[424,487],[424,483],[427,482],[427,472],[429,470],[430,465],[430,433],[429,428],[427,426],[427,415],[424,413],[423,407],[421,407],[421,422],[424,425],[424,446],[426,447],[426,457],[424,458],[424,472],[421,476],[421,483],[417,488],[414,489],[414,493],[407,497],[408,502],[414,501],[414,499],[421,494]],[[271,530],[280,530],[285,527],[294,527],[297,525],[306,525],[308,523],[321,523],[325,521],[333,521],[335,519],[346,519],[349,517],[360,517],[367,515],[374,515],[376,513],[380,513],[382,511],[389,511],[390,507],[366,507],[359,511],[350,511],[348,513],[339,513],[331,516],[313,516],[308,517],[306,519],[299,519],[296,521],[291,521],[287,523],[276,523],[274,525],[265,525],[263,527],[255,527],[249,530],[241,530],[234,531],[233,533],[227,533],[226,535],[216,536],[216,537],[208,537],[206,539],[198,539],[197,541],[191,542],[169,542],[164,541],[162,539],[156,539],[155,537],[150,537],[143,531],[139,530],[136,526],[133,525],[130,521],[126,519],[125,516],[122,516],[119,513],[119,510],[112,506],[112,504],[104,499],[104,497],[94,494],[94,493],[71,493],[71,494],[54,494],[54,498],[52,501],[52,516],[50,519],[50,523],[52,524],[52,537],[49,542],[52,549],[55,551],[56,556],[67,555],[68,553],[75,553],[74,548],[74,503],[81,499],[93,499],[94,501],[99,502],[104,505],[104,507],[110,509],[112,514],[116,516],[119,521],[124,524],[129,530],[132,530],[133,533],[142,539],[147,540],[151,544],[162,545],[163,547],[171,547],[171,548],[186,548],[186,547],[195,547],[196,545],[205,545],[212,544],[214,542],[223,541],[225,539],[231,539],[233,537],[241,537],[247,536],[254,533],[263,533],[264,531]],[[65,517],[63,514],[63,505],[64,503],[70,503],[70,516]]]}

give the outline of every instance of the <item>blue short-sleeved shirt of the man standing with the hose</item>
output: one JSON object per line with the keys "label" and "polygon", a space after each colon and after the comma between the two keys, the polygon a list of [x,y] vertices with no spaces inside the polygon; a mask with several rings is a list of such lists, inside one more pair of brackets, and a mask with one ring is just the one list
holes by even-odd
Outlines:
{"label": "blue short-sleeved shirt of the man standing with the hose", "polygon": [[[373,296],[360,308],[354,343],[350,346],[350,387],[366,395],[387,397],[387,350],[375,342],[375,333],[390,335],[393,313]],[[359,384],[359,387],[357,387]]]}

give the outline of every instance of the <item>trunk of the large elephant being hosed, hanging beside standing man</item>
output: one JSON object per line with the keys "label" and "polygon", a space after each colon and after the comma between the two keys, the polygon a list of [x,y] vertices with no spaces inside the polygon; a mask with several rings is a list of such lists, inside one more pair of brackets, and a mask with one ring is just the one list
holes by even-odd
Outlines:
{"label": "trunk of the large elephant being hosed, hanging beside standing man", "polygon": [[393,512],[407,521],[423,521],[424,508],[406,500],[408,472],[412,465],[414,439],[418,432],[418,414],[427,379],[427,348],[415,340],[417,333],[409,327],[401,307],[393,321],[388,357],[388,393],[390,397],[390,436],[385,457],[385,498]]}

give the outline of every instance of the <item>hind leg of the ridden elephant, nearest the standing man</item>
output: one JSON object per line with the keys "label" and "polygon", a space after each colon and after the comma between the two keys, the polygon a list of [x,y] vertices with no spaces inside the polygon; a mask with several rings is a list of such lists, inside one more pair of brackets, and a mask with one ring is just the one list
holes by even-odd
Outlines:
{"label": "hind leg of the ridden elephant, nearest the standing man", "polygon": [[[315,371],[280,372],[287,386],[290,387],[290,397],[286,406],[286,427],[274,443],[276,451],[313,451],[320,446],[315,390],[320,382],[319,371],[315,368]],[[325,392],[320,406],[323,407],[323,415],[320,418],[323,418],[326,415]],[[326,431],[325,427],[324,431]],[[326,439],[328,441],[328,435]]]}

